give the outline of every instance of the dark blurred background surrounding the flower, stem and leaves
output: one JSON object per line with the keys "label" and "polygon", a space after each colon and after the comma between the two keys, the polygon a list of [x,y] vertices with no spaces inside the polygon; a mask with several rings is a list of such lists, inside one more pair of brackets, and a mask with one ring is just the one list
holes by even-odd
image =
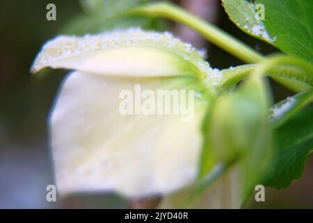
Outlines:
{"label": "dark blurred background surrounding the flower, stem and leaves", "polygon": [[[90,2],[99,1],[103,0]],[[275,52],[273,47],[251,38],[232,24],[218,0],[174,2],[215,23],[263,54]],[[56,5],[56,21],[46,19],[48,3]],[[243,64],[179,24],[143,17],[134,17],[127,22],[106,19],[105,14],[122,7],[121,4],[127,7],[131,1],[106,3],[102,5],[105,8],[98,7],[98,12],[92,8],[92,3],[74,0],[0,1],[0,208],[127,207],[127,201],[116,194],[77,194],[57,202],[46,201],[46,187],[54,184],[46,118],[66,71],[45,70],[39,75],[31,75],[29,68],[48,39],[59,33],[97,33],[116,26],[170,29],[196,47],[206,48],[209,63],[214,68]],[[275,100],[291,95],[279,84],[271,82],[271,85]],[[251,201],[246,208],[313,208],[312,176],[311,156],[300,181],[286,190],[267,189],[266,202]]]}

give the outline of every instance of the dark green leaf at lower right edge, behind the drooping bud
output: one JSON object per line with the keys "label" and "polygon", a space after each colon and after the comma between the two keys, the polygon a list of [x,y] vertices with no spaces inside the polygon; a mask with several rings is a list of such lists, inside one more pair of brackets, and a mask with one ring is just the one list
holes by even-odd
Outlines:
{"label": "dark green leaf at lower right edge, behind the drooping bud", "polygon": [[275,151],[264,185],[275,189],[298,180],[313,150],[313,108],[307,107],[275,128]]}

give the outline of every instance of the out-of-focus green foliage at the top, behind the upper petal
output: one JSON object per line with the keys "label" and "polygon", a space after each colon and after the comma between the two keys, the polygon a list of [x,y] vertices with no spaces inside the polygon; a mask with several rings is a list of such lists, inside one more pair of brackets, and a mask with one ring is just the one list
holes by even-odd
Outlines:
{"label": "out-of-focus green foliage at the top, behind the upper petal", "polygon": [[101,33],[113,29],[141,27],[143,29],[163,30],[164,20],[145,15],[129,15],[130,10],[147,3],[147,0],[84,0],[83,12],[73,17],[61,29],[63,34],[83,35]]}

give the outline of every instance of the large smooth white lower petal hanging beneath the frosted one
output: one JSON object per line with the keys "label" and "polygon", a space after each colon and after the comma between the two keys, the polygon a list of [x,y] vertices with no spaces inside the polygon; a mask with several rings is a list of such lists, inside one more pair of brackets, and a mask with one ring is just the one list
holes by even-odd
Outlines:
{"label": "large smooth white lower petal hanging beneath the frosted one", "polygon": [[70,74],[50,117],[58,191],[113,190],[143,197],[191,183],[202,146],[202,101],[195,100],[191,122],[177,115],[122,115],[118,110],[120,91],[134,91],[134,84],[175,89],[188,85],[188,79],[195,78]]}

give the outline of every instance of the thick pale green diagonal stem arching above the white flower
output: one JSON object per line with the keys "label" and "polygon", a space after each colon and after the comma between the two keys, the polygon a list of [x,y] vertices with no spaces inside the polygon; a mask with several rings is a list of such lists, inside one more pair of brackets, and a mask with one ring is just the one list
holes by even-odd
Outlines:
{"label": "thick pale green diagonal stem arching above the white flower", "polygon": [[248,45],[230,36],[228,33],[225,33],[223,30],[218,29],[218,27],[204,22],[200,18],[195,17],[186,10],[183,10],[182,8],[179,8],[171,3],[152,3],[147,6],[137,8],[131,13],[141,13],[154,17],[166,17],[176,22],[182,22],[195,31],[201,33],[202,36],[207,38],[207,40],[211,43],[217,45],[246,63],[257,63],[264,59],[262,54],[259,54]]}

